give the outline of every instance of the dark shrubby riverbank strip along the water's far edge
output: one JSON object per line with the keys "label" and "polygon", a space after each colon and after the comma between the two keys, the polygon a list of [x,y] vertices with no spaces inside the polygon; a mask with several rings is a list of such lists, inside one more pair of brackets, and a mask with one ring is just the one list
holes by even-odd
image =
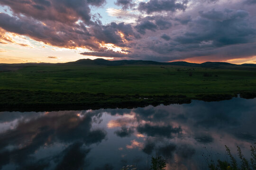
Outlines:
{"label": "dark shrubby riverbank strip along the water's far edge", "polygon": [[[106,95],[104,93],[60,93],[49,91],[0,90],[0,111],[54,111],[107,108],[136,108],[159,104],[183,104],[192,100],[206,102],[230,100],[236,94],[185,95]],[[241,93],[242,98],[255,98],[256,93]]]}

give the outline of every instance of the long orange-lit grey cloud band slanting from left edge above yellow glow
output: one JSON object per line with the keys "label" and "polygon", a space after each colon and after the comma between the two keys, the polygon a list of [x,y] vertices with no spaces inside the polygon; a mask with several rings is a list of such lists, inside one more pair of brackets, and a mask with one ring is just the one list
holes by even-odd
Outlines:
{"label": "long orange-lit grey cloud band slanting from left edge above yellow glow", "polygon": [[[110,23],[106,26],[95,24],[86,28],[82,23],[68,26],[48,21],[43,24],[31,18],[11,17],[4,13],[0,13],[0,26],[9,32],[27,35],[46,44],[66,48],[85,47],[90,50],[99,50],[98,42],[127,46],[124,41],[131,41],[131,38],[136,36],[130,24]],[[120,33],[124,37],[121,37]]]}

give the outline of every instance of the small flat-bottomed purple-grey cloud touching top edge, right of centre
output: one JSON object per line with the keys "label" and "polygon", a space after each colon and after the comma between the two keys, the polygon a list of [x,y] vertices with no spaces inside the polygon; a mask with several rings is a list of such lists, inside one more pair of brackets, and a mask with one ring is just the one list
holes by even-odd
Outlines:
{"label": "small flat-bottomed purple-grey cloud touching top edge, right of centre", "polygon": [[138,9],[145,11],[147,14],[153,12],[184,10],[186,8],[186,2],[178,2],[177,0],[149,0],[148,2],[140,2]]}

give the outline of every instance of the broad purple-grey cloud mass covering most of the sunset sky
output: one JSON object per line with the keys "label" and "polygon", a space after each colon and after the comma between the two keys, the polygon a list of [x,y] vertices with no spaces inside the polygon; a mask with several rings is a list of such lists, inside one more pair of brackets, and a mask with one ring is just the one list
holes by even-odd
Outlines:
{"label": "broad purple-grey cloud mass covering most of the sunset sky", "polygon": [[[140,2],[138,12],[150,16],[136,14],[132,15],[135,23],[104,25],[100,14],[91,14],[91,7],[103,7],[106,0],[1,0],[0,5],[9,7],[10,13],[0,13],[0,27],[4,29],[0,43],[15,43],[4,36],[7,31],[57,47],[82,47],[90,50],[82,55],[98,57],[171,61],[255,55],[256,21],[251,9],[255,0],[230,4],[223,4],[222,0],[198,2],[201,6],[195,3],[189,10],[187,0]],[[128,9],[135,1],[115,3]],[[102,48],[100,44],[105,43],[128,53]]]}

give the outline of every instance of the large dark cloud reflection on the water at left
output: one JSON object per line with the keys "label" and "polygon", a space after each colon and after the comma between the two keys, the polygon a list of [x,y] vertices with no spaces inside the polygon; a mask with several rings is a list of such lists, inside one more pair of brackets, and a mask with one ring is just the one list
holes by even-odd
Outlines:
{"label": "large dark cloud reflection on the water at left", "polygon": [[[79,146],[75,145],[73,148],[78,154],[81,144],[89,146],[105,139],[106,132],[104,130],[91,130],[94,114],[86,114],[80,118],[77,116],[77,112],[68,113],[56,112],[37,119],[20,121],[16,129],[0,134],[0,155],[6,146],[13,145],[14,149],[9,151],[12,161],[27,167],[31,164],[30,155],[46,144],[54,144],[56,141],[67,144],[79,143]],[[70,152],[73,153],[72,150]],[[64,159],[68,158],[64,156]],[[8,163],[8,160],[2,163]]]}

